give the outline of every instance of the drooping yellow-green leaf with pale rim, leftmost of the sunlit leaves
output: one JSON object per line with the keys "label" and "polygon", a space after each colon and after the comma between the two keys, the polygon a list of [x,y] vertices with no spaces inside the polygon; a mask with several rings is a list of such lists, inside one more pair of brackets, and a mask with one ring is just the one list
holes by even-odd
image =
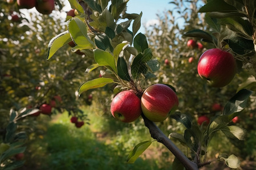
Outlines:
{"label": "drooping yellow-green leaf with pale rim, leftmost of the sunlit leaves", "polygon": [[71,36],[68,31],[62,32],[59,35],[55,36],[48,45],[47,58],[50,59],[53,54],[57,52],[63,45],[68,44],[72,41]]}

